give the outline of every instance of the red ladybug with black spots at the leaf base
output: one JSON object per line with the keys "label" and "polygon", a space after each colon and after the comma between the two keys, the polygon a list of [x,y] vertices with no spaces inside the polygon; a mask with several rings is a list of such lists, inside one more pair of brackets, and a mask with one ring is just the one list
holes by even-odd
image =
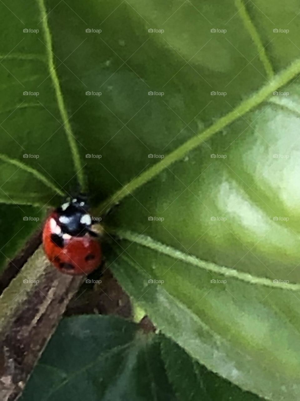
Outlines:
{"label": "red ladybug with black spots at the leaf base", "polygon": [[85,198],[77,196],[54,210],[44,225],[44,251],[62,273],[89,274],[101,263],[101,246],[87,209]]}

